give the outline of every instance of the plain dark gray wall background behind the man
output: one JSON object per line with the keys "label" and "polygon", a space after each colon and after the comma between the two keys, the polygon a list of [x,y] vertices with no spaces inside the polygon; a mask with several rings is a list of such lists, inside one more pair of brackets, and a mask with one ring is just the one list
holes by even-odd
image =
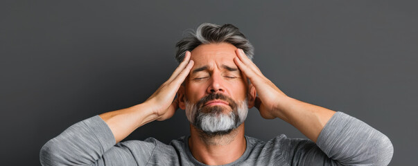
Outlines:
{"label": "plain dark gray wall background behind the man", "polygon": [[[413,1],[1,1],[2,165],[39,165],[44,143],[86,118],[146,100],[171,75],[175,43],[231,23],[287,95],[385,133],[390,165],[418,163],[418,13]],[[256,109],[246,134],[305,138]],[[184,111],[127,139],[189,134]]]}

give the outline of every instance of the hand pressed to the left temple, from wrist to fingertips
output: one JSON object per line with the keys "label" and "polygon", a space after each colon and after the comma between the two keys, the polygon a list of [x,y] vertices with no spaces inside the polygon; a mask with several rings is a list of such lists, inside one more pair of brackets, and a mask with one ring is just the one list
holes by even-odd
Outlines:
{"label": "hand pressed to the left temple, from wrist to fingertips", "polygon": [[[190,56],[191,53],[186,51],[183,62],[175,69],[171,77],[145,101],[153,113],[157,115],[157,120],[171,118],[179,108],[179,99],[175,98],[175,94],[193,67],[194,62],[190,60]],[[174,98],[175,100],[173,100]]]}

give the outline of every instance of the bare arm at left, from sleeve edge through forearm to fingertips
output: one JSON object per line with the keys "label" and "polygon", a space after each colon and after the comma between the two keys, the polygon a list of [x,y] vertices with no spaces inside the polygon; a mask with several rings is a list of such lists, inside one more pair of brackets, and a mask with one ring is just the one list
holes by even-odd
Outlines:
{"label": "bare arm at left, from sleeve edge through forearm to fingertips", "polygon": [[99,115],[112,130],[116,142],[120,142],[143,124],[154,120],[166,120],[174,115],[178,109],[178,98],[174,100],[175,94],[194,64],[190,56],[191,53],[186,51],[183,62],[175,69],[173,75],[142,104]]}

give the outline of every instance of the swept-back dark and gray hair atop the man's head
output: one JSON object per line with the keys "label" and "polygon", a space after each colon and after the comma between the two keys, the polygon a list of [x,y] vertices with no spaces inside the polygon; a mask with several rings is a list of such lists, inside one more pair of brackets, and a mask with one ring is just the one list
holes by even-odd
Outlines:
{"label": "swept-back dark and gray hair atop the man's head", "polygon": [[232,24],[219,26],[216,24],[204,23],[198,27],[195,33],[191,30],[189,36],[184,37],[180,42],[175,44],[177,47],[175,59],[179,63],[182,62],[186,51],[191,51],[200,44],[218,44],[222,42],[243,49],[245,55],[250,59],[254,56],[254,47],[236,26],[233,26]]}

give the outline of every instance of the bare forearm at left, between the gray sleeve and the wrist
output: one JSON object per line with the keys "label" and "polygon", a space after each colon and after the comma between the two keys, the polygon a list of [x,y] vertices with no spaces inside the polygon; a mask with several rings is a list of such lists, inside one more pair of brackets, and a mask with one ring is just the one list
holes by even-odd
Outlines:
{"label": "bare forearm at left, between the gray sleeve and the wrist", "polygon": [[151,111],[146,102],[126,109],[102,113],[99,116],[112,130],[116,143],[129,136],[130,133],[143,124],[157,119],[157,116]]}

